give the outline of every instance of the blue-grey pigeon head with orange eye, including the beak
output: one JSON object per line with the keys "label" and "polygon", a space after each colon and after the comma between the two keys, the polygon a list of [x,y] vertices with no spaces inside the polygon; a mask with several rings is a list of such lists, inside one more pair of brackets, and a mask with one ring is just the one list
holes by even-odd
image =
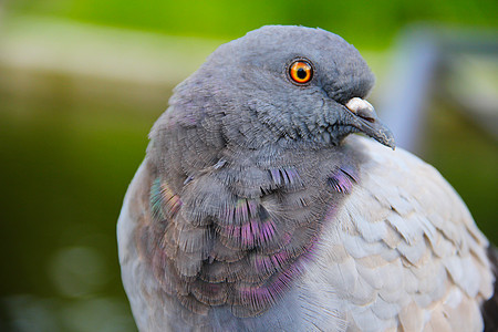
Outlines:
{"label": "blue-grey pigeon head with orange eye, including the beak", "polygon": [[360,132],[394,147],[364,100],[373,84],[365,61],[339,35],[269,25],[219,46],[177,86],[170,105],[187,110],[187,101],[197,112],[203,105],[225,139],[238,145],[338,145]]}

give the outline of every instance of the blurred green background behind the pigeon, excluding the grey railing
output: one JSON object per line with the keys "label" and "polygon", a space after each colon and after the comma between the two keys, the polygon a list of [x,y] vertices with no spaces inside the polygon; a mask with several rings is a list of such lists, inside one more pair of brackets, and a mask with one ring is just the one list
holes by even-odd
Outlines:
{"label": "blurred green background behind the pigeon, excluding the grey railing", "polygon": [[[3,2],[0,331],[135,331],[117,263],[122,199],[172,89],[220,43],[263,24],[320,27],[353,43],[382,85],[407,25],[496,32],[496,13],[494,0]],[[496,100],[496,52],[485,63],[455,80],[491,85]],[[448,95],[429,95],[417,154],[496,242],[497,136]]]}

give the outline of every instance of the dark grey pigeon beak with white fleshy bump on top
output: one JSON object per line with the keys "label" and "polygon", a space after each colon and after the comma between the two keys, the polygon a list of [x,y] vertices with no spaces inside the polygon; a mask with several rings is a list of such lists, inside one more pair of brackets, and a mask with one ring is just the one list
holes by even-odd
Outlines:
{"label": "dark grey pigeon beak with white fleshy bump on top", "polygon": [[393,133],[378,120],[371,103],[359,97],[353,97],[345,104],[345,107],[354,115],[351,125],[376,139],[378,143],[394,149]]}

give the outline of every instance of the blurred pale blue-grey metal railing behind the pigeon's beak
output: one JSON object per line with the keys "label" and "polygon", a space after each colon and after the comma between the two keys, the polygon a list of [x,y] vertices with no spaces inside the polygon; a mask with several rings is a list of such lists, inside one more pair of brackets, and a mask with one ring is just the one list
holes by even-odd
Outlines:
{"label": "blurred pale blue-grey metal railing behind the pigeon's beak", "polygon": [[[401,33],[376,108],[392,128],[396,146],[417,153],[426,110],[435,95],[450,100],[498,139],[498,34],[496,31],[446,31],[412,25]],[[467,59],[466,59],[467,58]],[[486,66],[490,82],[463,70],[468,58]],[[457,82],[459,81],[459,82]],[[466,82],[465,82],[466,81]]]}

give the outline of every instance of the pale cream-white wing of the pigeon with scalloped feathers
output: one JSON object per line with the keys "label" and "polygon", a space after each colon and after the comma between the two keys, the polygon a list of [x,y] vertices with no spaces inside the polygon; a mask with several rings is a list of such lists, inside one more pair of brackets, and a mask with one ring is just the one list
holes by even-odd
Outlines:
{"label": "pale cream-white wing of the pigeon with scalloped feathers", "polygon": [[492,294],[487,239],[428,164],[362,137],[360,180],[322,235],[305,278],[343,301],[349,329],[480,331]]}

